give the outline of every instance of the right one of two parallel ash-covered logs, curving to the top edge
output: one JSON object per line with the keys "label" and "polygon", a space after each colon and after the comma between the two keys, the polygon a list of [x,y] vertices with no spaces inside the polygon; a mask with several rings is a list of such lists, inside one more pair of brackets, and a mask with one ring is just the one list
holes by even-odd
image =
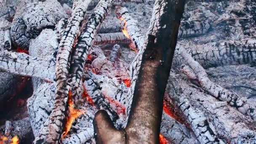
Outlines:
{"label": "right one of two parallel ash-covered logs, curving to the top edge", "polygon": [[88,56],[88,51],[89,48],[91,48],[96,32],[110,10],[112,3],[113,0],[101,0],[96,5],[96,8],[93,10],[86,26],[82,30],[81,35],[78,37],[78,44],[76,45],[75,51],[72,55],[70,66],[72,97],[80,97],[82,94],[81,78],[85,61]]}

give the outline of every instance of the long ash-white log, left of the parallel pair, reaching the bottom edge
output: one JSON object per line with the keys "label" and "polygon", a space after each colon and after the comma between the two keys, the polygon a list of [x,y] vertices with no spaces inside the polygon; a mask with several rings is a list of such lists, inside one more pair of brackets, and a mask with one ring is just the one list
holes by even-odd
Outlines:
{"label": "long ash-white log, left of the parallel pair, reaching the bottom edge", "polygon": [[56,62],[56,96],[54,98],[54,107],[48,120],[45,122],[41,132],[35,138],[36,142],[58,143],[63,130],[64,119],[66,117],[67,96],[69,93],[69,84],[67,83],[70,53],[79,35],[79,25],[83,20],[84,14],[91,1],[84,2],[76,0],[74,3],[74,13],[65,29],[65,34],[61,38],[59,52]]}

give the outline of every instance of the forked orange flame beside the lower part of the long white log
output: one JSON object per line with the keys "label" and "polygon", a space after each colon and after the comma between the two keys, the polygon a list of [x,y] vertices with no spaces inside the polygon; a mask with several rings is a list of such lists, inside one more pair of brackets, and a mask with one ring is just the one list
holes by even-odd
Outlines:
{"label": "forked orange flame beside the lower part of the long white log", "polygon": [[67,123],[66,123],[66,127],[65,127],[65,132],[62,136],[62,139],[67,135],[67,133],[69,132],[73,122],[75,121],[75,119],[77,117],[80,117],[80,115],[83,115],[85,113],[85,111],[80,111],[77,109],[74,109],[74,102],[72,101],[72,94],[71,91],[69,91],[69,100],[68,100],[68,104],[69,104],[69,116],[67,118]]}

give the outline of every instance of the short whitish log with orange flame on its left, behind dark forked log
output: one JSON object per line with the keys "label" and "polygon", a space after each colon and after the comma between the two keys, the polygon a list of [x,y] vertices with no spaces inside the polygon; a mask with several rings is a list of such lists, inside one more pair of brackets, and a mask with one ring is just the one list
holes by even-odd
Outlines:
{"label": "short whitish log with orange flame on its left, behind dark forked log", "polygon": [[129,15],[127,8],[120,6],[115,8],[117,17],[124,22],[124,29],[122,29],[124,35],[135,43],[135,51],[139,51],[144,44],[145,36],[141,33],[137,21]]}

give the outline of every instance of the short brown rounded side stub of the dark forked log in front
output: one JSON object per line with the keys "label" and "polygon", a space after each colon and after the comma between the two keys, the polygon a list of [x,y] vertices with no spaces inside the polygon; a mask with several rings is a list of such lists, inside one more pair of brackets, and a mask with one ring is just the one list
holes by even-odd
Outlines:
{"label": "short brown rounded side stub of the dark forked log in front", "polygon": [[96,112],[93,126],[95,133],[97,133],[97,144],[125,143],[125,132],[115,129],[115,126],[105,110],[99,110]]}

